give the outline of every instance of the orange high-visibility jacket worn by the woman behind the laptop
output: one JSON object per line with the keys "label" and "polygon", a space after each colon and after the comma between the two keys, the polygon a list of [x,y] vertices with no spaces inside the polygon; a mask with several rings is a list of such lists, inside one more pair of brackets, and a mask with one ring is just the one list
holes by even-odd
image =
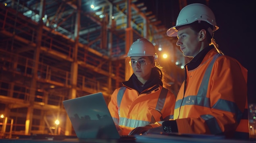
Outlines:
{"label": "orange high-visibility jacket worn by the woman behind the laptop", "polygon": [[113,92],[108,109],[122,130],[119,134],[128,135],[134,128],[145,125],[158,127],[161,125],[158,121],[173,119],[176,97],[170,90],[155,85],[142,93],[125,85]]}

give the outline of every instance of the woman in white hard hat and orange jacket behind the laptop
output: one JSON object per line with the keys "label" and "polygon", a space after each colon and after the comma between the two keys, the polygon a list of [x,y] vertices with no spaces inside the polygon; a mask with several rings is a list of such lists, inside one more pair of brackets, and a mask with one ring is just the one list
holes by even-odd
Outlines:
{"label": "woman in white hard hat and orange jacket behind the laptop", "polygon": [[155,128],[161,125],[160,121],[173,119],[175,105],[175,95],[163,87],[153,44],[145,38],[138,39],[127,57],[134,73],[113,92],[108,104],[121,135],[128,135],[137,127]]}

